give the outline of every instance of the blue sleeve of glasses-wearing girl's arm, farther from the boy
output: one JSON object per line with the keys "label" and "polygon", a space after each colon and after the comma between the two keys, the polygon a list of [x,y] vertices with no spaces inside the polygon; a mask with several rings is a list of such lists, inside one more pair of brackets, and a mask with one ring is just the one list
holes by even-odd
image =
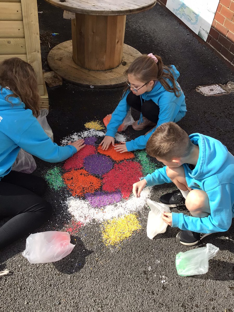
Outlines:
{"label": "blue sleeve of glasses-wearing girl's arm, farther from the boy", "polygon": [[114,110],[111,116],[110,122],[106,127],[107,128],[106,135],[114,138],[120,124],[123,123],[124,118],[126,117],[130,108],[126,100],[128,94],[129,92],[126,92],[126,94],[124,95],[124,98],[120,100],[118,106]]}

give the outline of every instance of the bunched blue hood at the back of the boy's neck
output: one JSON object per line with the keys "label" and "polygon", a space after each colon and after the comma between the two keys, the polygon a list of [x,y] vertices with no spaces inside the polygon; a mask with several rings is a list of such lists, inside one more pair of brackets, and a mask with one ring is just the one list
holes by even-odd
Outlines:
{"label": "bunched blue hood at the back of the boy's neck", "polygon": [[199,133],[191,134],[189,138],[193,144],[199,146],[197,165],[193,170],[188,170],[189,176],[203,180],[216,174],[230,155],[226,146],[214,138]]}

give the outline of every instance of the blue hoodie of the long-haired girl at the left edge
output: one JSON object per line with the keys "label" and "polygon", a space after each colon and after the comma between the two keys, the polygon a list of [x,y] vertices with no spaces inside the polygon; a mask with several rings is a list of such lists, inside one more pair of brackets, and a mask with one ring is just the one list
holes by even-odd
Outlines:
{"label": "blue hoodie of the long-haired girl at the left edge", "polygon": [[7,88],[0,91],[0,179],[11,171],[20,148],[50,163],[60,162],[76,153],[72,145],[53,143],[32,115],[32,110],[26,110],[19,98],[9,98],[13,105],[5,100],[9,94],[12,91]]}

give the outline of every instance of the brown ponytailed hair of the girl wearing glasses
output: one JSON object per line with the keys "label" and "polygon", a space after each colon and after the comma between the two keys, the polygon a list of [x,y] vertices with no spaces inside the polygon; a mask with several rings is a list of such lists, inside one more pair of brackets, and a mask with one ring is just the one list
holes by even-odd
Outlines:
{"label": "brown ponytailed hair of the girl wearing glasses", "polygon": [[[155,61],[147,55],[142,55],[136,58],[129,68],[125,71],[125,74],[133,74],[138,80],[148,83],[149,81],[156,80],[160,81],[164,89],[168,92],[174,92],[174,94],[179,97],[181,94],[181,89],[178,89],[175,78],[171,72],[172,68],[165,66],[163,64],[161,56],[155,55],[158,59],[158,62]],[[169,84],[168,80],[171,80],[173,87]],[[126,94],[129,86],[127,86],[122,94],[122,98]]]}

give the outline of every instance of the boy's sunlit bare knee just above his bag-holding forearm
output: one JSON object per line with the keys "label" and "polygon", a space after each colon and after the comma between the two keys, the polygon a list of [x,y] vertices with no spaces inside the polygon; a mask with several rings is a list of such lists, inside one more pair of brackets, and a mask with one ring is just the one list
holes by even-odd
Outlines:
{"label": "boy's sunlit bare knee just above his bag-holding forearm", "polygon": [[185,200],[185,205],[190,212],[204,211],[204,208],[207,213],[210,212],[209,198],[207,193],[202,190],[190,191]]}

